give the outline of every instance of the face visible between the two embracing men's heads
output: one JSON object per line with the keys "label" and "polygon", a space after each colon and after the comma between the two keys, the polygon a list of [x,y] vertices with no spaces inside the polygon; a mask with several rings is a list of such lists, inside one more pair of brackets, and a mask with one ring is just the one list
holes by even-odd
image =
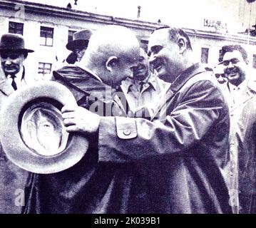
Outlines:
{"label": "face visible between the two embracing men's heads", "polygon": [[145,53],[143,48],[140,48],[140,57],[138,58],[138,66],[133,68],[133,78],[143,81],[148,77],[149,73],[149,62],[148,55]]}

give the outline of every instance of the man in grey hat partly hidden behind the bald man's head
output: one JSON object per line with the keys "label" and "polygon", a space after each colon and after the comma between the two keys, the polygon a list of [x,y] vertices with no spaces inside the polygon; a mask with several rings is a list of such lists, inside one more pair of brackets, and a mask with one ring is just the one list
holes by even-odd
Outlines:
{"label": "man in grey hat partly hidden behind the bald man's head", "polygon": [[83,58],[86,48],[88,47],[91,34],[91,30],[88,29],[73,33],[73,41],[70,41],[66,44],[66,48],[69,51],[72,51],[66,58],[67,63],[73,64],[76,63],[76,61],[81,61],[81,58]]}

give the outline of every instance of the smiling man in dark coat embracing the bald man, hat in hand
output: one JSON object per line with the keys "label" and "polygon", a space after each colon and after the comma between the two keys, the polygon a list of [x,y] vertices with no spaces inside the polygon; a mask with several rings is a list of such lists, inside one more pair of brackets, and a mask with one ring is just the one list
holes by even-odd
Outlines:
{"label": "smiling man in dark coat embracing the bald man, hat in hand", "polygon": [[160,78],[172,83],[153,121],[86,109],[81,120],[64,107],[67,128],[98,136],[100,162],[141,162],[151,213],[232,213],[224,178],[230,119],[220,88],[193,62],[183,30],[154,31],[148,48]]}

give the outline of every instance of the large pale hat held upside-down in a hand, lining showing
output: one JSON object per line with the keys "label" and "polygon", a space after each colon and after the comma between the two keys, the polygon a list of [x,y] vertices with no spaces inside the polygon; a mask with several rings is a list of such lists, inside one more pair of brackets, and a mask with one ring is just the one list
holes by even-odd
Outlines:
{"label": "large pale hat held upside-down in a hand, lining showing", "polygon": [[53,173],[75,165],[88,150],[88,140],[67,133],[61,108],[76,105],[68,88],[48,81],[9,95],[0,113],[0,140],[6,156],[24,170]]}

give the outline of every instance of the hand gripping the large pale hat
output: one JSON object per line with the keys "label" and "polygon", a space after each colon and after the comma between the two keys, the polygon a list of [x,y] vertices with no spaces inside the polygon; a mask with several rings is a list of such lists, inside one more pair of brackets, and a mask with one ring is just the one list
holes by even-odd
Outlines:
{"label": "hand gripping the large pale hat", "polygon": [[61,109],[61,113],[68,133],[93,134],[98,131],[100,116],[85,108],[65,105]]}

